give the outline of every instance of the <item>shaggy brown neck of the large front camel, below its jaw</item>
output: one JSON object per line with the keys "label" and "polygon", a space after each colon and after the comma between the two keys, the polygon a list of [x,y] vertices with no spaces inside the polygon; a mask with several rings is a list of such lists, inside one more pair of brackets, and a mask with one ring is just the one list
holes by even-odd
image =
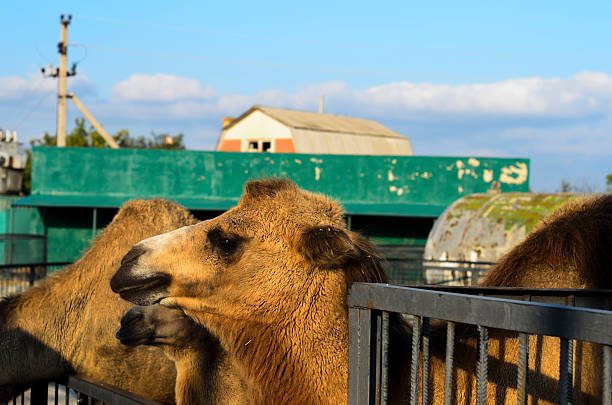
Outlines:
{"label": "shaggy brown neck of the large front camel, below its jaw", "polygon": [[207,314],[194,318],[219,337],[255,397],[253,403],[346,402],[346,332],[323,330],[319,325],[308,330],[309,325],[291,322],[230,324]]}

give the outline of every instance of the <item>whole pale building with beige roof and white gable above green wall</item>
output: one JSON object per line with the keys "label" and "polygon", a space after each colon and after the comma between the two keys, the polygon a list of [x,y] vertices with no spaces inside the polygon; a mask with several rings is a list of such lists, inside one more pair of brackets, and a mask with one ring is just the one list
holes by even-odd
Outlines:
{"label": "whole pale building with beige roof and white gable above green wall", "polygon": [[223,124],[218,151],[412,155],[408,138],[363,118],[254,106]]}

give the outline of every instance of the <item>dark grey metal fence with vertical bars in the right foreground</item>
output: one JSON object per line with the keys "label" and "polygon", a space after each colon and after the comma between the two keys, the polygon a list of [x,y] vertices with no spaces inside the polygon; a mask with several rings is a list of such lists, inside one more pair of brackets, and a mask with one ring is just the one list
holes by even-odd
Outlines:
{"label": "dark grey metal fence with vertical bars in the right foreground", "polygon": [[[612,404],[612,311],[573,308],[506,298],[447,292],[445,288],[410,288],[388,284],[354,283],[349,287],[349,404],[386,404],[388,393],[389,313],[412,315],[410,403],[429,402],[430,319],[447,321],[444,403],[452,403],[455,324],[476,325],[478,335],[476,403],[485,404],[488,375],[489,328],[518,332],[516,392],[518,404],[527,404],[529,335],[560,338],[559,404],[572,401],[573,341],[603,346],[603,403]],[[472,293],[520,296],[534,301],[561,301],[609,308],[612,291],[471,289]],[[489,290],[489,291],[487,291]],[[464,289],[463,292],[468,292]],[[418,382],[421,370],[421,383]],[[419,400],[418,396],[421,394]]]}

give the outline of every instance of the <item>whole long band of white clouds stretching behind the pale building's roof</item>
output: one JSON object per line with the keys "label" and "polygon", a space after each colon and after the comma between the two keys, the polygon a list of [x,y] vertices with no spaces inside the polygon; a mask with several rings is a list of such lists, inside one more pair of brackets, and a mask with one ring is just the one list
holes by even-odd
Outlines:
{"label": "whole long band of white clouds stretching behind the pale building's roof", "polygon": [[386,119],[580,119],[612,112],[612,77],[597,72],[469,85],[394,82],[363,90],[335,81],[293,93],[271,89],[253,95],[217,95],[196,79],[157,74],[133,75],[113,92],[123,101],[168,103],[167,117],[179,119],[237,115],[254,104],[314,111],[321,94],[326,111]]}

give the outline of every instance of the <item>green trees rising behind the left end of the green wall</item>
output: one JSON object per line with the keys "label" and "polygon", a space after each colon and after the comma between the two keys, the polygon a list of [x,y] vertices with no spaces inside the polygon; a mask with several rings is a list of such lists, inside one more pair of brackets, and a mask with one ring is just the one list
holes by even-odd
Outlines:
{"label": "green trees rising behind the left end of the green wall", "polygon": [[[175,136],[171,136],[168,133],[158,134],[156,132],[151,132],[150,136],[148,137],[144,135],[132,137],[130,136],[130,133],[127,129],[122,129],[116,134],[112,135],[112,138],[115,142],[117,142],[120,148],[174,150],[185,149],[182,133],[179,133]],[[32,140],[30,142],[30,145],[55,146],[57,145],[57,136],[50,135],[49,133],[45,132],[42,138]],[[102,135],[100,135],[100,133],[98,133],[98,131],[96,131],[93,126],[90,126],[89,129],[85,127],[84,118],[77,118],[75,119],[75,127],[66,136],[66,146],[83,148],[105,148],[108,145]],[[27,150],[27,154],[28,158],[26,160],[26,166],[23,171],[23,182],[21,186],[21,190],[25,195],[30,194],[32,176],[32,151]]]}

